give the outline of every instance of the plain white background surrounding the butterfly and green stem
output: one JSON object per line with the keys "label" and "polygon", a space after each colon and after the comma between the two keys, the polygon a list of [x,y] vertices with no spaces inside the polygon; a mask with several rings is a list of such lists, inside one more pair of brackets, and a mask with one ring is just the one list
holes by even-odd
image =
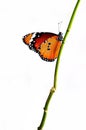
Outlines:
{"label": "plain white background surrounding the butterfly and green stem", "polygon": [[[65,34],[77,0],[0,1],[0,130],[37,130],[54,62],[30,51],[31,32]],[[86,130],[86,0],[81,0],[59,66],[58,87],[43,130]]]}

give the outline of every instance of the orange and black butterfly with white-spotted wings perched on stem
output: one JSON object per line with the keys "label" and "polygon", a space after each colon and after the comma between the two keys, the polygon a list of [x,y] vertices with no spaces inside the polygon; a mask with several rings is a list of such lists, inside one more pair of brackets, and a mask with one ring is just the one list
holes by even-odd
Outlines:
{"label": "orange and black butterfly with white-spotted wings perched on stem", "polygon": [[62,40],[62,32],[59,32],[59,34],[33,32],[23,37],[23,42],[29,46],[29,49],[38,53],[45,61],[54,61],[58,58]]}

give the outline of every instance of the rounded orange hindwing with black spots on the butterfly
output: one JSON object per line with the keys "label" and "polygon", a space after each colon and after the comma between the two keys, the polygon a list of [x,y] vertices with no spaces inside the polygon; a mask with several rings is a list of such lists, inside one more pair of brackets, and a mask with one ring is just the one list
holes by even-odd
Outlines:
{"label": "rounded orange hindwing with black spots on the butterfly", "polygon": [[52,36],[40,45],[39,55],[42,59],[53,61],[58,57],[61,42],[59,42],[57,39],[58,36]]}

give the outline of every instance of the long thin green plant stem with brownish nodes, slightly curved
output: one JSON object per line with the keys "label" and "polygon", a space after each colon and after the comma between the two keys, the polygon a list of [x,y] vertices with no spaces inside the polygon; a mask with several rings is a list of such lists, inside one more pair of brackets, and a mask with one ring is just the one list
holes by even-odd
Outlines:
{"label": "long thin green plant stem with brownish nodes, slightly curved", "polygon": [[72,23],[73,23],[77,8],[79,6],[79,3],[80,3],[80,0],[77,0],[77,3],[75,5],[75,7],[74,7],[72,16],[70,18],[70,21],[69,21],[69,24],[68,24],[68,27],[67,27],[67,30],[66,30],[66,33],[65,33],[65,36],[64,36],[63,41],[62,41],[62,46],[61,46],[61,49],[60,49],[60,52],[59,52],[59,55],[58,55],[58,60],[56,62],[56,67],[55,67],[54,85],[51,88],[50,93],[48,95],[48,98],[46,100],[46,103],[45,103],[45,106],[44,106],[44,113],[43,113],[42,121],[41,121],[41,123],[40,123],[40,125],[38,127],[38,130],[42,130],[42,128],[44,127],[44,124],[45,124],[45,121],[46,121],[46,116],[47,116],[47,111],[48,111],[48,106],[49,106],[50,100],[52,98],[52,95],[55,92],[56,87],[57,87],[58,68],[59,68],[59,63],[60,63],[60,57],[61,57],[61,54],[62,54],[62,49],[64,47],[64,44],[65,44],[66,38],[68,36],[68,33],[69,33],[70,29],[71,29],[71,26],[72,26]]}

